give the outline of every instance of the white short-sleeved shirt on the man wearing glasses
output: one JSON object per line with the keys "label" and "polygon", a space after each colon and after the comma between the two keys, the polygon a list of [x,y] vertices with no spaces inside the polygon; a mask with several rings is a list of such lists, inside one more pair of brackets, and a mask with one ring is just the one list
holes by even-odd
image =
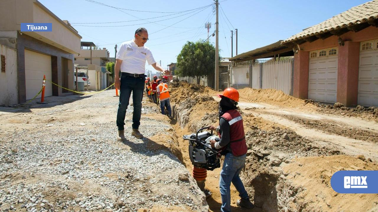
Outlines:
{"label": "white short-sleeved shirt on the man wearing glasses", "polygon": [[156,63],[152,53],[146,46],[138,46],[134,40],[121,44],[116,59],[122,60],[121,72],[130,74],[146,74],[146,61],[148,65]]}

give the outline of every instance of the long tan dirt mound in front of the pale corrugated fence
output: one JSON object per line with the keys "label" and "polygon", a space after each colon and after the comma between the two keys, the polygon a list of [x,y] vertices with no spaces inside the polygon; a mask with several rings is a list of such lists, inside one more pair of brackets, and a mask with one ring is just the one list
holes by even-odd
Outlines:
{"label": "long tan dirt mound in front of the pale corrugated fence", "polygon": [[308,107],[305,106],[304,100],[287,95],[281,90],[243,88],[238,91],[240,98],[246,101],[273,103],[293,108]]}

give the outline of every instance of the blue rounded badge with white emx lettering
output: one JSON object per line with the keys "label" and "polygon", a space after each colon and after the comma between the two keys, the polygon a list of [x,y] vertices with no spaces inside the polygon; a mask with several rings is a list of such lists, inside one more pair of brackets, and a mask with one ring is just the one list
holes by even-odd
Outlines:
{"label": "blue rounded badge with white emx lettering", "polygon": [[338,171],[332,189],[341,194],[378,194],[378,171]]}

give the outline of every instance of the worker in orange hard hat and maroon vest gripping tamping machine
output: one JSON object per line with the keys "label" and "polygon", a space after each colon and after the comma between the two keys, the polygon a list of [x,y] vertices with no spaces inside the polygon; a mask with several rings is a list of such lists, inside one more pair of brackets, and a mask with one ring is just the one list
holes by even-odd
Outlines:
{"label": "worker in orange hard hat and maroon vest gripping tamping machine", "polygon": [[237,111],[237,102],[239,101],[239,92],[234,88],[226,88],[219,101],[219,126],[215,128],[210,126],[211,130],[216,130],[220,135],[220,140],[211,140],[211,147],[215,149],[224,149],[222,155],[225,155],[222,171],[220,172],[219,189],[222,197],[222,212],[231,211],[230,185],[234,184],[239,192],[240,200],[236,201],[237,206],[252,209],[254,205],[249,200],[248,194],[244,188],[239,173],[245,166],[247,145],[245,143],[245,134],[243,118]]}

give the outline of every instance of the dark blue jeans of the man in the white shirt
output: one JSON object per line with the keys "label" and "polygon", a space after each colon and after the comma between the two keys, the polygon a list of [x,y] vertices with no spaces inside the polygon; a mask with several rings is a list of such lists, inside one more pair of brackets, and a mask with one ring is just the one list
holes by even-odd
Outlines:
{"label": "dark blue jeans of the man in the white shirt", "polygon": [[142,98],[144,92],[145,77],[129,77],[121,75],[121,89],[119,94],[119,104],[117,112],[117,127],[118,130],[124,130],[125,115],[131,92],[133,92],[133,129],[138,129],[142,113]]}

